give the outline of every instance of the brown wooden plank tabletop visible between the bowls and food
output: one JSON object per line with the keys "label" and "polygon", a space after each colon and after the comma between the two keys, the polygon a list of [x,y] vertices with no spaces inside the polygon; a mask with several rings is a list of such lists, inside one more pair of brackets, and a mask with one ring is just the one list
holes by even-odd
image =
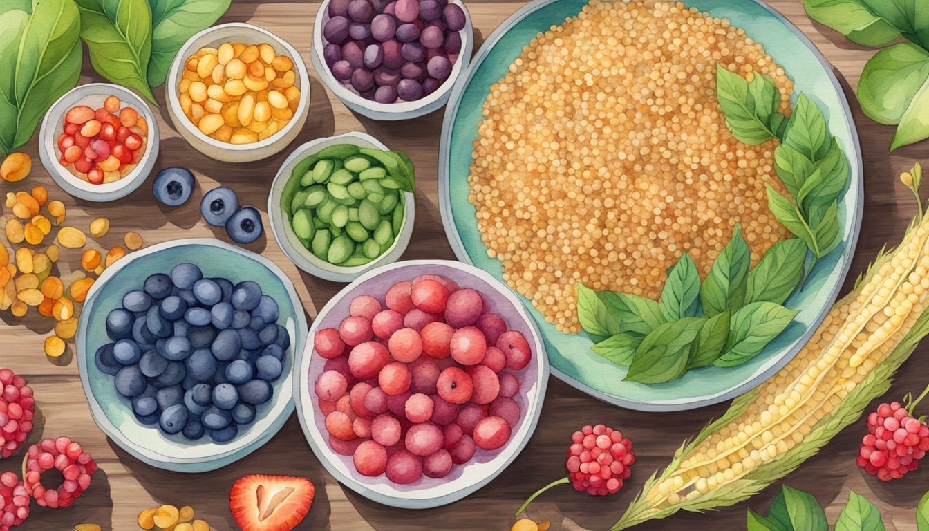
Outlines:
{"label": "brown wooden plank tabletop visible between the bowls and food", "polygon": [[[894,245],[902,237],[915,206],[896,176],[916,160],[929,163],[929,142],[888,155],[893,128],[871,122],[861,113],[855,98],[858,76],[873,52],[809,20],[800,0],[767,1],[812,39],[830,61],[855,114],[864,156],[865,214],[855,260],[845,282],[844,290],[847,290],[884,243]],[[475,49],[520,6],[518,2],[470,0]],[[309,65],[312,23],[317,7],[318,2],[298,0],[233,0],[229,12],[220,21],[249,21],[268,28],[294,45]],[[98,81],[103,80],[85,58],[80,83]],[[412,242],[403,259],[454,259],[438,213],[435,177],[442,113],[401,123],[374,122],[348,112],[314,73],[310,73],[310,87],[309,119],[293,146],[350,130],[366,130],[389,147],[409,153],[417,168],[417,216]],[[164,102],[163,88],[158,89],[156,95]],[[46,175],[36,156],[35,139],[24,148],[35,161],[32,177],[19,184],[4,183],[2,192],[17,191],[24,185],[44,184],[53,197],[59,197],[68,206],[68,224],[86,229],[90,219],[100,216],[111,219],[110,233],[89,244],[102,249],[119,245],[124,232],[130,230],[140,232],[147,245],[182,237],[224,238],[225,234],[208,227],[198,212],[203,191],[219,183],[233,188],[244,204],[253,204],[267,215],[268,187],[289,149],[257,163],[219,163],[190,148],[165,118],[163,106],[162,149],[155,170],[181,165],[190,167],[196,174],[199,187],[185,206],[176,209],[159,206],[151,196],[150,180],[119,202],[93,204],[75,200],[60,191]],[[283,256],[270,234],[248,248],[281,266],[297,286],[310,317],[315,316],[321,305],[342,286],[297,270]],[[67,272],[69,261],[79,261],[77,254],[62,254],[59,261],[62,273]],[[317,485],[316,500],[307,519],[298,526],[300,530],[504,530],[509,529],[513,512],[530,493],[565,475],[564,452],[570,433],[584,423],[597,422],[622,429],[635,442],[637,461],[627,486],[618,496],[609,498],[589,497],[562,486],[535,501],[529,514],[536,520],[551,520],[553,529],[606,529],[619,519],[651,472],[668,462],[681,441],[726,409],[726,405],[721,404],[681,413],[638,413],[598,402],[551,378],[539,427],[529,445],[507,470],[490,485],[449,506],[404,511],[369,501],[334,481],[310,451],[295,416],[268,445],[219,471],[191,475],[145,465],[114,445],[94,424],[77,365],[72,359],[72,347],[69,346],[69,351],[59,360],[46,358],[43,340],[51,332],[49,320],[34,311],[23,319],[13,318],[8,312],[2,318],[0,365],[28,378],[35,391],[38,415],[30,443],[40,437],[70,436],[82,443],[100,465],[93,484],[72,508],[49,510],[33,503],[33,514],[19,527],[22,531],[65,530],[82,522],[100,524],[105,530],[130,531],[137,529],[135,521],[139,511],[161,503],[192,505],[198,517],[205,518],[215,529],[235,529],[228,508],[229,487],[236,478],[255,472],[302,475]],[[927,354],[929,345],[924,344],[912,355],[886,400],[899,400],[906,392],[922,390],[926,383],[924,375],[929,374]],[[914,530],[914,508],[922,494],[929,490],[929,471],[923,466],[904,480],[889,485],[864,474],[855,464],[863,432],[864,420],[861,419],[788,476],[786,483],[813,493],[821,504],[828,505],[830,522],[834,522],[844,506],[849,489],[854,489],[879,506],[887,529]],[[17,456],[0,461],[0,470],[19,471],[21,454],[20,451]],[[746,509],[766,511],[778,490],[779,486],[768,488],[750,501],[722,511],[706,515],[682,512],[671,519],[639,528],[744,529]]]}

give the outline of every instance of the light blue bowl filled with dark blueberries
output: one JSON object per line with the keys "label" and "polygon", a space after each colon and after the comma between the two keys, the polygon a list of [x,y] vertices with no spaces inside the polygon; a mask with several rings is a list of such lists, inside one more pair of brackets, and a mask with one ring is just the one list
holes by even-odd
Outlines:
{"label": "light blue bowl filled with dark blueberries", "polygon": [[170,471],[228,465],[294,410],[307,321],[268,259],[213,239],[137,251],[85,301],[76,357],[91,414],[117,445]]}

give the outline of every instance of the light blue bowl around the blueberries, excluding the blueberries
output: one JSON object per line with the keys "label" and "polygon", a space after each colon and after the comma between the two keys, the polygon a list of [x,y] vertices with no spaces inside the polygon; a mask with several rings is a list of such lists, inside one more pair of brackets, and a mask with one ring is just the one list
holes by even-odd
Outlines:
{"label": "light blue bowl around the blueberries, excluding the blueberries", "polygon": [[[111,342],[106,334],[107,314],[122,307],[126,292],[138,289],[150,274],[169,273],[179,263],[190,262],[205,277],[224,277],[233,284],[252,280],[275,299],[281,308],[282,325],[291,336],[281,378],[273,383],[270,402],[259,405],[255,421],[240,429],[235,439],[217,445],[208,436],[189,441],[181,434],[165,435],[140,423],[131,402],[116,392],[113,377],[94,363],[98,348]],[[294,285],[270,260],[212,239],[165,242],[127,255],[100,275],[90,290],[77,331],[76,357],[90,412],[100,430],[139,460],[168,471],[212,471],[254,452],[277,433],[294,411],[294,352],[303,352],[307,320]]]}

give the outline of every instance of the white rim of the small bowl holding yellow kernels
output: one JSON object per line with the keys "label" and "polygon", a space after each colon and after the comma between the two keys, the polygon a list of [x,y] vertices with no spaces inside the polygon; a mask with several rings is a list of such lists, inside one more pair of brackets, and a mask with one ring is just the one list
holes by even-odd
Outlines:
{"label": "white rim of the small bowl holding yellow kernels", "polygon": [[[277,49],[278,46],[281,46],[281,48],[287,50],[287,52],[291,55],[291,60],[294,62],[294,68],[296,69],[297,73],[297,80],[300,83],[300,85],[297,86],[300,89],[300,100],[297,103],[296,111],[294,111],[294,117],[292,117],[287,122],[286,126],[283,126],[283,128],[281,128],[277,133],[274,133],[267,139],[258,140],[257,142],[248,144],[232,144],[208,137],[204,135],[198,127],[194,126],[190,122],[187,114],[184,113],[184,110],[180,106],[180,95],[177,94],[177,85],[179,83],[178,78],[180,77],[178,73],[183,68],[183,63],[190,56],[190,48],[193,47],[195,42],[209,35],[210,33],[215,33],[216,30],[222,30],[226,28],[239,28],[262,33],[274,41],[275,49]],[[290,43],[283,40],[277,34],[271,33],[260,26],[255,26],[255,24],[249,24],[247,22],[227,22],[225,24],[217,24],[216,26],[211,26],[202,32],[195,33],[193,36],[191,36],[190,39],[188,39],[187,42],[185,42],[184,45],[181,46],[179,50],[177,50],[177,55],[171,62],[171,68],[168,69],[168,78],[165,84],[164,99],[166,100],[167,105],[171,107],[172,112],[177,115],[177,122],[180,123],[180,126],[189,131],[190,134],[194,136],[194,138],[202,141],[210,147],[226,150],[229,152],[251,152],[263,148],[268,148],[269,146],[272,146],[276,142],[280,141],[288,131],[294,128],[298,122],[296,118],[297,115],[300,113],[309,112],[309,73],[307,71],[307,63],[303,60],[300,52],[296,51],[294,46],[291,46]]]}

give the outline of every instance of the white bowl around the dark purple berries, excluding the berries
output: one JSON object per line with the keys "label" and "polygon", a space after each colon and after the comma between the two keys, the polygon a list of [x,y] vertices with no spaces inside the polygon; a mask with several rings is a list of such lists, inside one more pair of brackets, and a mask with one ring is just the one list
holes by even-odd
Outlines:
{"label": "white bowl around the dark purple berries, excluding the berries", "polygon": [[455,80],[467,68],[471,61],[471,50],[474,47],[474,39],[471,29],[471,14],[461,0],[450,0],[464,10],[464,28],[459,33],[462,35],[462,49],[458,52],[458,57],[451,65],[451,74],[449,78],[438,87],[438,90],[415,101],[399,101],[396,103],[378,103],[374,100],[361,98],[360,94],[352,87],[346,86],[338,79],[335,79],[333,72],[326,64],[322,56],[322,50],[326,46],[322,38],[322,26],[329,20],[329,2],[324,0],[320,5],[320,10],[316,12],[316,23],[313,26],[313,49],[310,53],[310,60],[313,63],[313,69],[320,76],[322,82],[333,91],[335,96],[342,100],[346,106],[356,113],[363,114],[374,120],[408,120],[423,116],[433,111],[437,111],[449,100],[451,96],[451,87],[455,85]]}

